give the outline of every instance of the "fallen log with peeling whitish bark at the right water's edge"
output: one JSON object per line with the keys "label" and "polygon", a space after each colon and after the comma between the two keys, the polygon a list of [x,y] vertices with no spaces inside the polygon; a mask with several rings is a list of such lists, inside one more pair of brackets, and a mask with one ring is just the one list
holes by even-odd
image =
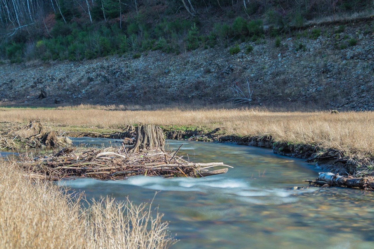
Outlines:
{"label": "fallen log with peeling whitish bark at the right water's edge", "polygon": [[362,178],[353,178],[352,176],[340,176],[331,172],[319,173],[315,181],[307,180],[318,185],[328,184],[330,186],[344,186],[349,188],[362,188],[374,190],[374,178],[365,176]]}

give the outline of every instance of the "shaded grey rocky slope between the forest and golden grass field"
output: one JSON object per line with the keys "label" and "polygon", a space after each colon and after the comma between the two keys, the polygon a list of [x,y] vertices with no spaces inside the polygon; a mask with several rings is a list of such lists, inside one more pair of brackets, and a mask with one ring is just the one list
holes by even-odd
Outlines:
{"label": "shaded grey rocky slope between the forest and golden grass field", "polygon": [[[239,44],[235,55],[215,47],[137,59],[3,63],[1,105],[218,104],[232,98],[230,87],[248,95],[248,79],[253,94],[246,106],[374,110],[374,25],[350,24],[340,33],[316,27],[316,39],[312,29],[281,37],[280,47],[269,35]],[[38,98],[41,90],[46,98]]]}

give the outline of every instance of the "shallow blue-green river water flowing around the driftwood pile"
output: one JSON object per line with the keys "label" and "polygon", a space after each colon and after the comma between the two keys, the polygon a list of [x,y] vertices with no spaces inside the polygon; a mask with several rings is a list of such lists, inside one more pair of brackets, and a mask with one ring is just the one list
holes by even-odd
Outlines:
{"label": "shallow blue-green river water flowing around the driftwood pile", "polygon": [[[107,145],[108,139],[74,138],[74,143]],[[307,188],[318,169],[272,150],[233,144],[181,144],[191,161],[224,162],[226,174],[205,179],[136,176],[124,181],[66,182],[87,199],[113,196],[135,203],[154,200],[180,242],[172,248],[374,248],[373,192]]]}

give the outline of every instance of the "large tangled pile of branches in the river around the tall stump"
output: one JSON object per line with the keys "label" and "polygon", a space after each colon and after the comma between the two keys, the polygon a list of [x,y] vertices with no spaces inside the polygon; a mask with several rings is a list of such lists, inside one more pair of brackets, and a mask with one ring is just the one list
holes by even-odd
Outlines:
{"label": "large tangled pile of branches in the river around the tall stump", "polygon": [[128,176],[191,176],[205,177],[226,173],[227,168],[208,171],[212,167],[230,167],[223,163],[191,163],[177,152],[148,151],[130,153],[128,148],[64,148],[56,154],[18,162],[32,178],[57,180],[73,176],[97,179],[126,179]]}

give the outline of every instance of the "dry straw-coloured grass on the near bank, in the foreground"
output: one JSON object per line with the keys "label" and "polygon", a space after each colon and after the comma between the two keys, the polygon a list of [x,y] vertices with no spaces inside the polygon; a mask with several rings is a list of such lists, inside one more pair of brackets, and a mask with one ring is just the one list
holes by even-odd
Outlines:
{"label": "dry straw-coloured grass on the near bank, in the foreground", "polygon": [[3,248],[168,248],[175,241],[151,205],[101,198],[82,209],[50,182],[31,181],[0,161],[0,245]]}

